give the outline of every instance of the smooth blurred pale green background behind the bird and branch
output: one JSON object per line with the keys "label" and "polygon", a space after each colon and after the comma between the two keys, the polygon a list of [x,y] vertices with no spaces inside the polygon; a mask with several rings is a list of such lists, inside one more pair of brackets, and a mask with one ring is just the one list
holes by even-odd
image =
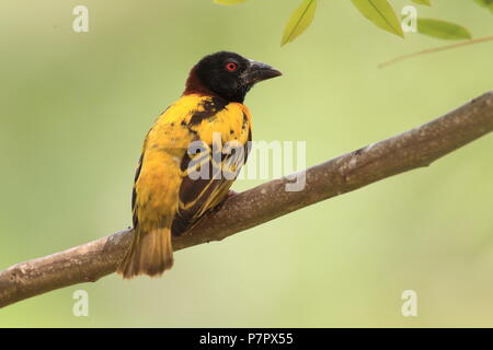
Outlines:
{"label": "smooth blurred pale green background behind the bird and branch", "polygon": [[[392,1],[400,11],[409,1]],[[89,33],[72,9],[89,8]],[[314,165],[419,126],[492,89],[493,43],[423,56],[448,42],[378,30],[349,1],[320,1],[283,48],[298,0],[0,3],[0,268],[130,224],[145,133],[190,68],[227,49],[284,77],[246,98],[255,140],[306,140]],[[423,16],[474,37],[493,16],[433,1]],[[14,327],[493,326],[493,137],[437,161],[237,234],[179,252],[161,279],[115,275],[0,310]],[[236,190],[261,183],[239,180]],[[72,293],[89,293],[89,317]],[[414,290],[419,316],[401,315]]]}

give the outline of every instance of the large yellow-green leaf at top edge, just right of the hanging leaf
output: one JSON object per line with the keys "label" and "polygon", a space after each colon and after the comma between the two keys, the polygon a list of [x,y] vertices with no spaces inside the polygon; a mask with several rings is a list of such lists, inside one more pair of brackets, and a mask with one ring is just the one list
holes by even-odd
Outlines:
{"label": "large yellow-green leaf at top edge, just right of the hanging leaf", "polygon": [[387,0],[352,0],[362,14],[376,26],[404,37],[401,23]]}

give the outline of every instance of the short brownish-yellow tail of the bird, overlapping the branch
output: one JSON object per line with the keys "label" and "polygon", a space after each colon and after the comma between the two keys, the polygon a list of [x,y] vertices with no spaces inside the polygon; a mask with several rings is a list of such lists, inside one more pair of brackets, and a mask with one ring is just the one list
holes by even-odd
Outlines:
{"label": "short brownish-yellow tail of the bird, overlapping the branch", "polygon": [[173,266],[170,228],[141,232],[136,229],[130,248],[117,268],[124,279],[138,275],[161,276]]}

